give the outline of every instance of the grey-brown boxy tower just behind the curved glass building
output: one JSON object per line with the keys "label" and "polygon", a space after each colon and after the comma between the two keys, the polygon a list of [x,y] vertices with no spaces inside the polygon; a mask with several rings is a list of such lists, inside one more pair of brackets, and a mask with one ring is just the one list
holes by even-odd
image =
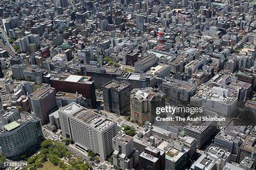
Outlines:
{"label": "grey-brown boxy tower just behind the curved glass building", "polygon": [[43,86],[29,95],[30,109],[36,117],[41,119],[42,125],[49,122],[48,115],[57,109],[55,99],[55,89],[48,84]]}

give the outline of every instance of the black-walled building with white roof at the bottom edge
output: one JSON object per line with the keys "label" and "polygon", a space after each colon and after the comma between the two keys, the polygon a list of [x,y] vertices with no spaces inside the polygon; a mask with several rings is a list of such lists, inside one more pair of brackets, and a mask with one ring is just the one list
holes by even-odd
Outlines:
{"label": "black-walled building with white roof at the bottom edge", "polygon": [[165,151],[154,146],[147,146],[139,155],[139,169],[165,169]]}

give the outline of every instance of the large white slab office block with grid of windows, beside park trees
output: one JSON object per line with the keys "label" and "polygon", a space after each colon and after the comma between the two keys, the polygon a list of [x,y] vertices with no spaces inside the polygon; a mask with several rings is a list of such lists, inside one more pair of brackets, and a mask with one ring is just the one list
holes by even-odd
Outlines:
{"label": "large white slab office block with grid of windows, beside park trees", "polygon": [[65,138],[73,139],[79,148],[91,150],[102,159],[112,155],[112,139],[117,135],[116,122],[77,103],[66,105],[58,113]]}

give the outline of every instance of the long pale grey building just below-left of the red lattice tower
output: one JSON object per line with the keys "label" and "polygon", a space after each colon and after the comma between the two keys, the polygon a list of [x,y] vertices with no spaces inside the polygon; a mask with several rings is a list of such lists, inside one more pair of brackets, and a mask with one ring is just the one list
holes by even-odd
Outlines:
{"label": "long pale grey building just below-left of the red lattice tower", "polygon": [[143,59],[134,62],[134,72],[143,73],[145,72],[145,70],[156,65],[156,63],[157,63],[156,54],[146,53],[144,54]]}

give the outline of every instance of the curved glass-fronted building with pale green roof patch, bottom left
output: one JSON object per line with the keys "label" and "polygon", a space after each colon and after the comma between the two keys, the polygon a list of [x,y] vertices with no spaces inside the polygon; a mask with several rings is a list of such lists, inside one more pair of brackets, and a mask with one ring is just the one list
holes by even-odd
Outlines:
{"label": "curved glass-fronted building with pale green roof patch, bottom left", "polygon": [[16,157],[39,144],[42,137],[39,119],[28,112],[22,112],[17,121],[1,127],[0,150],[7,158]]}

